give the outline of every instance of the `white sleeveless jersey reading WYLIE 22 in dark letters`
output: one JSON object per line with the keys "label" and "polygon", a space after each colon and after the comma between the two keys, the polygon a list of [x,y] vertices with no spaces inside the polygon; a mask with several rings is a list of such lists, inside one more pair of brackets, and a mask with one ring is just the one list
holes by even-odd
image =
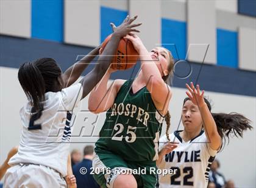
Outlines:
{"label": "white sleeveless jersey reading WYLIE 22 in dark letters", "polygon": [[[176,149],[163,156],[159,169],[173,169],[176,173],[159,176],[160,187],[207,187],[210,166],[215,159],[216,150],[208,145],[207,137],[202,131],[187,143],[179,136],[180,131],[169,135],[171,141],[179,143]],[[161,150],[168,139],[160,138]]]}

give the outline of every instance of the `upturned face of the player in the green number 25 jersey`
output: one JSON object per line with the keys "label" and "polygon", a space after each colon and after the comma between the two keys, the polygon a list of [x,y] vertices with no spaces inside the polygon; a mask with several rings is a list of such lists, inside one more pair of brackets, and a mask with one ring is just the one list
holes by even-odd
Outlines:
{"label": "upturned face of the player in the green number 25 jersey", "polygon": [[150,55],[155,61],[155,64],[157,64],[157,68],[161,73],[161,76],[163,77],[168,75],[168,63],[170,62],[168,51],[162,47],[157,47],[151,50]]}

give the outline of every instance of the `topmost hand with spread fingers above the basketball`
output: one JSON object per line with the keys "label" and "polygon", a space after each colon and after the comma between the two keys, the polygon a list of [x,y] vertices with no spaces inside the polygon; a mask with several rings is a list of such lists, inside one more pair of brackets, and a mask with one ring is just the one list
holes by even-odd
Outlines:
{"label": "topmost hand with spread fingers above the basketball", "polygon": [[133,27],[138,27],[142,24],[142,23],[132,24],[132,22],[135,21],[135,19],[137,19],[137,17],[138,16],[134,16],[133,18],[130,18],[130,16],[128,15],[126,17],[126,19],[124,19],[123,23],[121,25],[119,25],[118,27],[116,27],[115,24],[110,23],[110,25],[112,26],[113,33],[115,33],[115,35],[118,35],[119,37],[122,38],[130,32],[140,32],[137,29],[133,29]]}

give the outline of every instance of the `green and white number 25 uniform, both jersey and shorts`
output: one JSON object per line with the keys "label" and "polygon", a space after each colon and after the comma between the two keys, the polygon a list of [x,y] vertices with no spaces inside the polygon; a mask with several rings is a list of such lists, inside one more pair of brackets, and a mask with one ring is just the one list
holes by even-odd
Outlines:
{"label": "green and white number 25 uniform, both jersey and shorts", "polygon": [[[163,116],[157,111],[151,94],[143,87],[132,93],[130,79],[124,82],[113,106],[108,109],[105,123],[96,142],[94,169],[146,169],[146,174],[134,175],[138,187],[155,187],[156,175],[149,174],[158,159],[158,140]],[[117,174],[102,172],[94,178],[102,187],[112,187]]]}

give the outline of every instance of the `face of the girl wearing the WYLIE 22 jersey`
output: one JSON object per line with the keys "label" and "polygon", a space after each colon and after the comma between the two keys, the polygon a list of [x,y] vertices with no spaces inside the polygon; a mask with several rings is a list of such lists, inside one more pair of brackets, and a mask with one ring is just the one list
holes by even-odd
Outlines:
{"label": "face of the girl wearing the WYLIE 22 jersey", "polygon": [[182,124],[188,132],[195,132],[202,129],[202,116],[199,108],[190,100],[182,107]]}

